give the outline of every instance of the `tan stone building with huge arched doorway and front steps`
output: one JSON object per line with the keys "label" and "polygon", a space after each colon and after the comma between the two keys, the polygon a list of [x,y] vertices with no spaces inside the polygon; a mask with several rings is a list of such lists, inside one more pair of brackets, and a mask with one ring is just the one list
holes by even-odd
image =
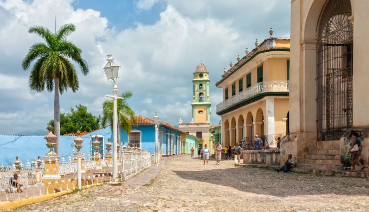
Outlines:
{"label": "tan stone building with huge arched doorway and front steps", "polygon": [[291,135],[281,158],[292,153],[298,167],[348,166],[352,130],[369,162],[368,8],[369,0],[291,0]]}

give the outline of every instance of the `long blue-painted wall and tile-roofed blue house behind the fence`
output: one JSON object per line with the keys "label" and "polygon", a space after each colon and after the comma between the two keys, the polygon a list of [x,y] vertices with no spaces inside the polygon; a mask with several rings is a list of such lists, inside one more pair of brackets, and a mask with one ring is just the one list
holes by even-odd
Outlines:
{"label": "long blue-painted wall and tile-roofed blue house behind the fence", "polygon": [[[155,150],[155,123],[154,120],[143,116],[137,116],[138,125],[132,126],[132,132],[127,135],[121,129],[121,144],[141,147],[142,149],[151,151],[154,154]],[[162,155],[174,155],[181,154],[181,136],[180,130],[174,126],[161,122],[159,127],[159,142],[160,152]],[[83,147],[81,152],[86,156],[91,155],[94,150],[91,142],[93,142],[94,136],[98,135],[100,141],[100,154],[103,155],[105,150],[105,144],[107,139],[112,139],[112,130],[109,127],[100,128],[95,131],[89,132],[81,138],[83,139]],[[45,135],[0,135],[0,166],[11,165],[15,160],[15,156],[19,156],[22,163],[27,163],[27,160],[35,160],[37,156],[44,156],[48,152],[46,147]],[[68,156],[73,156],[76,151],[72,147],[73,140],[76,136],[62,135],[60,136],[60,154],[67,160]],[[112,142],[112,140],[111,140]],[[102,156],[103,157],[103,156]]]}

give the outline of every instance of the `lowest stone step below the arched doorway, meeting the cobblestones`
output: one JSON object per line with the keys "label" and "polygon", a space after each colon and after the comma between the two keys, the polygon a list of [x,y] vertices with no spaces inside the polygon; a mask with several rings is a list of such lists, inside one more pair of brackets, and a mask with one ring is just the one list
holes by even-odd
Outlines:
{"label": "lowest stone step below the arched doorway, meeting the cobblestones", "polygon": [[357,178],[365,178],[365,179],[369,178],[369,172],[351,172],[351,171],[345,171],[345,170],[307,169],[307,168],[301,168],[301,167],[291,168],[291,171],[298,172],[298,173],[308,173],[308,174],[326,175],[326,176],[357,177]]}

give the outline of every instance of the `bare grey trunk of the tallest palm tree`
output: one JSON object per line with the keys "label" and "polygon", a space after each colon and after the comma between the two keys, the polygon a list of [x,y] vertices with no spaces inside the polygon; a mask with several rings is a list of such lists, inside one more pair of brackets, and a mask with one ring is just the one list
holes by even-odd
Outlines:
{"label": "bare grey trunk of the tallest palm tree", "polygon": [[56,135],[55,152],[60,157],[60,103],[58,78],[54,78],[54,133]]}

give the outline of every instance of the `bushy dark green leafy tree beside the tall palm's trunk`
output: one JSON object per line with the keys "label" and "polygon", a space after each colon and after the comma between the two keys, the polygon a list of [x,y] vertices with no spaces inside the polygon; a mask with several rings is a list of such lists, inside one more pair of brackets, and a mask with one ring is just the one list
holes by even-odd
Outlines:
{"label": "bushy dark green leafy tree beside the tall palm's trunk", "polygon": [[[70,108],[71,113],[60,113],[60,134],[93,131],[100,127],[101,116],[95,116],[87,111],[87,107],[78,105]],[[54,120],[50,120],[49,125],[54,126]]]}

